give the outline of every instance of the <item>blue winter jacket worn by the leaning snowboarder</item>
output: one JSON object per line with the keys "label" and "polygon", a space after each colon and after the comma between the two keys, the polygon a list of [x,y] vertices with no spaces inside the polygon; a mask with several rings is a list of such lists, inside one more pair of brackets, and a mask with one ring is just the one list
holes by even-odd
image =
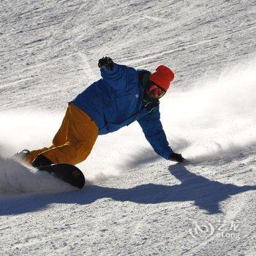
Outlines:
{"label": "blue winter jacket worn by the leaning snowboarder", "polygon": [[115,132],[138,121],[146,139],[160,156],[173,152],[160,121],[159,105],[148,113],[143,104],[144,89],[138,75],[145,70],[114,64],[113,71],[100,69],[102,79],[78,94],[72,103],[89,115],[99,127],[99,135]]}

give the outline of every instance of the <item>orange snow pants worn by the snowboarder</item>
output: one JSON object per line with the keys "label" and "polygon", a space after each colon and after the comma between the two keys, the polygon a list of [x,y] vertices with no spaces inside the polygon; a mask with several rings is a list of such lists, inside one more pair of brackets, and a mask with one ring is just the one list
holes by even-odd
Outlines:
{"label": "orange snow pants worn by the snowboarder", "polygon": [[83,162],[98,137],[98,127],[83,110],[69,103],[59,131],[53,138],[53,145],[31,151],[26,162],[30,165],[38,154],[47,157],[53,163],[76,165]]}

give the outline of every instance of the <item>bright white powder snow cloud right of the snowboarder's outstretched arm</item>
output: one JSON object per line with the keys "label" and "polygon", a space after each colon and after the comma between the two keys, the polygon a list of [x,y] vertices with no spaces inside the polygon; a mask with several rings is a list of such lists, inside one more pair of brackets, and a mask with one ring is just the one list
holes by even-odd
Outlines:
{"label": "bright white powder snow cloud right of the snowboarder's outstretched arm", "polygon": [[192,89],[173,91],[162,107],[170,143],[195,162],[255,146],[255,85],[252,59],[214,79],[202,79]]}

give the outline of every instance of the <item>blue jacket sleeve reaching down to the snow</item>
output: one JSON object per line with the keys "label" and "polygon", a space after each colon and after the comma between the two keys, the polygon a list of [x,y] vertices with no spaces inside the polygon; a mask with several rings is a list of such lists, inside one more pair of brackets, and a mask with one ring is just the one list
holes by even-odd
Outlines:
{"label": "blue jacket sleeve reaching down to the snow", "polygon": [[146,139],[152,148],[154,148],[154,151],[161,157],[169,159],[173,150],[170,148],[165,131],[162,129],[159,107],[157,107],[152,113],[148,113],[143,118],[140,118],[138,123],[143,129]]}

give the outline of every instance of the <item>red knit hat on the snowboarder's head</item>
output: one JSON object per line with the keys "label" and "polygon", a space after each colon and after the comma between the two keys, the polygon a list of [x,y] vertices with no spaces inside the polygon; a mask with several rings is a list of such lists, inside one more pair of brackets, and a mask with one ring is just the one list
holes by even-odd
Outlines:
{"label": "red knit hat on the snowboarder's head", "polygon": [[156,71],[154,71],[151,75],[149,75],[149,80],[157,83],[157,86],[161,87],[165,91],[169,89],[170,82],[174,78],[174,73],[168,67],[164,65],[160,65],[157,67]]}

